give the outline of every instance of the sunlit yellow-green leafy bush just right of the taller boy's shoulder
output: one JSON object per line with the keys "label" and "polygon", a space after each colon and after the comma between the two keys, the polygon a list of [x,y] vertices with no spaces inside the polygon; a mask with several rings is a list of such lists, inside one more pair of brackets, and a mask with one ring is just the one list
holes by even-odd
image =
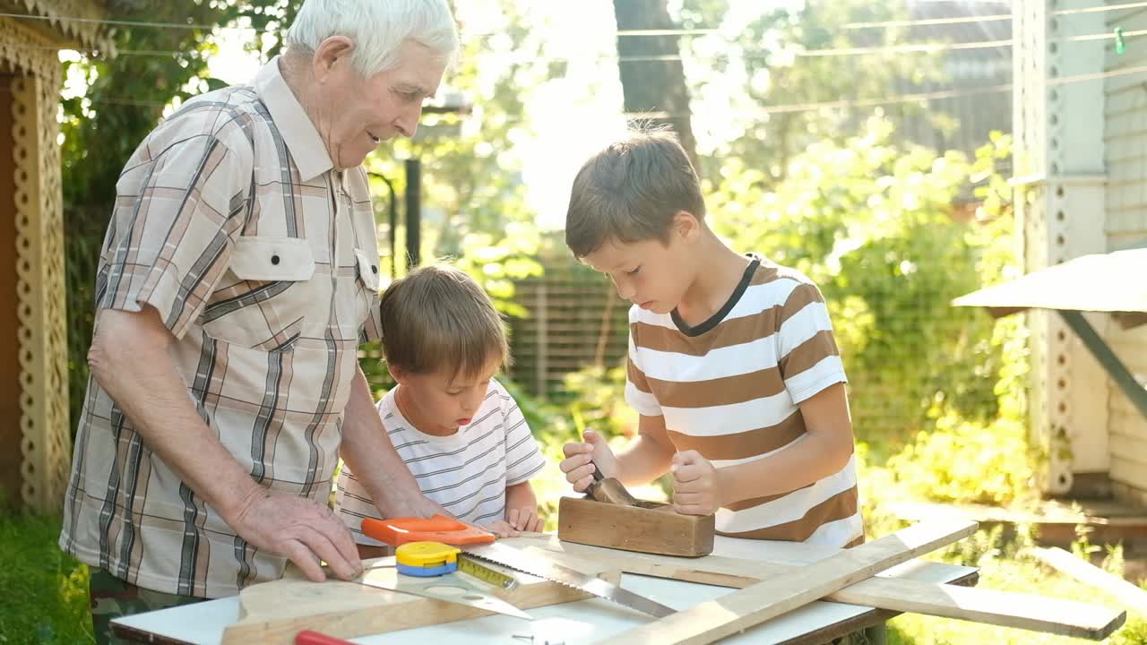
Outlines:
{"label": "sunlit yellow-green leafy bush just right of the taller boy's shoulder", "polygon": [[929,422],[937,402],[972,419],[997,414],[993,324],[951,301],[998,280],[1014,254],[998,195],[990,205],[1001,212],[985,207],[970,223],[952,207],[972,181],[994,176],[1006,138],[969,161],[890,137],[891,124],[873,118],[842,143],[813,143],[775,185],[728,160],[709,204],[715,230],[735,248],[820,286],[857,393],[857,432],[895,444]]}

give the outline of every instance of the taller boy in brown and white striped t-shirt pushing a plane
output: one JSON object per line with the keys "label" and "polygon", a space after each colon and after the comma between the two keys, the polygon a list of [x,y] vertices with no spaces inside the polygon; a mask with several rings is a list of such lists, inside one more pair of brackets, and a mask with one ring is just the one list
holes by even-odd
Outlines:
{"label": "taller boy in brown and white striped t-shirt pushing a plane", "polygon": [[638,437],[601,435],[561,464],[583,491],[600,468],[629,485],[673,475],[680,513],[733,537],[864,539],[844,370],[820,290],[739,255],[705,224],[700,181],[669,132],[634,132],[574,180],[565,242],[630,309],[625,398]]}

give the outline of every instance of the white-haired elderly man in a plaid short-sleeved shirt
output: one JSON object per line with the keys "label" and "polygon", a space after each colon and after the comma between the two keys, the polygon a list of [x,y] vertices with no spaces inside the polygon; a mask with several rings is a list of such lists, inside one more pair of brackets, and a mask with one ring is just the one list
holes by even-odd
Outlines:
{"label": "white-haired elderly man in a plaid short-sleeved shirt", "polygon": [[326,502],[340,452],[385,516],[439,511],[375,413],[362,160],[414,134],[457,55],[446,0],[307,0],[250,85],[188,101],[127,162],[100,257],[60,546],[93,616],[360,573]]}

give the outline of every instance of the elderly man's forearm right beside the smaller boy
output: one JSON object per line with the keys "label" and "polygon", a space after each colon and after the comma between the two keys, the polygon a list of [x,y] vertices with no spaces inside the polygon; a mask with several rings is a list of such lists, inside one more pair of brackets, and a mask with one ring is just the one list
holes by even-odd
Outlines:
{"label": "elderly man's forearm right beside the smaller boy", "polygon": [[379,419],[366,375],[361,370],[356,372],[343,418],[343,443],[340,448],[343,461],[370,494],[383,516],[428,516],[444,512],[419,490],[418,481],[395,450]]}

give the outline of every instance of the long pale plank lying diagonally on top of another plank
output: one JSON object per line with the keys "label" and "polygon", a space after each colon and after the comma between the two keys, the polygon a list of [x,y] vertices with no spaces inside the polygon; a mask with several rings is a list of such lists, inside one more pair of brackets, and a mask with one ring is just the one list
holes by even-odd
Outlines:
{"label": "long pale plank lying diagonally on top of another plank", "polygon": [[867,580],[975,533],[975,522],[921,522],[825,560],[770,577],[602,643],[704,645]]}

